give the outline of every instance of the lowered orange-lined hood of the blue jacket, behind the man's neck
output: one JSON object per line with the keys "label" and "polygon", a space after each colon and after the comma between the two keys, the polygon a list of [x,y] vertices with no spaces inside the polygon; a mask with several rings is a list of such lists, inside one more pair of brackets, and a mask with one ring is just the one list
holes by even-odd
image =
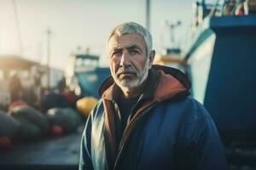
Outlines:
{"label": "lowered orange-lined hood of the blue jacket, behind the man's neck", "polygon": [[[154,92],[155,100],[161,101],[173,97],[176,99],[189,94],[189,88],[191,85],[188,78],[182,71],[164,65],[152,65],[151,70],[156,72],[158,75],[157,81],[152,82],[156,83]],[[108,77],[104,82],[102,82],[102,86],[98,91],[99,95],[104,97],[104,94],[108,94],[108,91],[113,84],[115,84],[113,77]]]}

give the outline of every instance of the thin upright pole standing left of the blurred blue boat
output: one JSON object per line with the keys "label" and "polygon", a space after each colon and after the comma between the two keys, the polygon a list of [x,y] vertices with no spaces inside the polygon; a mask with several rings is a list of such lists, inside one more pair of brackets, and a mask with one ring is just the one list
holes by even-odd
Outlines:
{"label": "thin upright pole standing left of the blurred blue boat", "polygon": [[47,87],[50,89],[50,36],[52,31],[48,28],[46,31],[47,34],[47,61],[46,61],[46,69],[47,69]]}

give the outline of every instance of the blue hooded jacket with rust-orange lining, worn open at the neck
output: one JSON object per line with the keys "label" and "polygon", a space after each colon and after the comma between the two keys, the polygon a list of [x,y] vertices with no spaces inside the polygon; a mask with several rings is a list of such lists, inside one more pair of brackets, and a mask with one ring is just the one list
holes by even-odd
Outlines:
{"label": "blue hooded jacket with rust-orange lining, worn open at the neck", "polygon": [[[79,169],[228,169],[212,117],[188,94],[183,73],[154,66],[156,81],[121,138],[114,138],[115,85],[108,78],[102,99],[91,112],[82,136]],[[152,74],[151,74],[152,75]]]}

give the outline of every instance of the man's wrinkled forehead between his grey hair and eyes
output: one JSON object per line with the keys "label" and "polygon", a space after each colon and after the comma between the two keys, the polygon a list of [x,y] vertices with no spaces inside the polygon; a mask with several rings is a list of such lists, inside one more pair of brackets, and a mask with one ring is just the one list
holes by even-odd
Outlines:
{"label": "man's wrinkled forehead between his grey hair and eyes", "polygon": [[129,48],[131,46],[137,46],[146,50],[146,42],[139,34],[125,34],[125,35],[113,35],[108,41],[108,52],[113,49]]}

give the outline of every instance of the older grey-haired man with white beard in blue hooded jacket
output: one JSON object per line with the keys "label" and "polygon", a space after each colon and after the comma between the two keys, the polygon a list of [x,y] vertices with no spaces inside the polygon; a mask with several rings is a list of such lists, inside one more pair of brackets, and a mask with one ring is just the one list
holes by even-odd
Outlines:
{"label": "older grey-haired man with white beard in blue hooded jacket", "polygon": [[86,122],[79,169],[227,169],[218,130],[189,97],[189,81],[152,65],[149,31],[124,23],[107,46],[112,77]]}

